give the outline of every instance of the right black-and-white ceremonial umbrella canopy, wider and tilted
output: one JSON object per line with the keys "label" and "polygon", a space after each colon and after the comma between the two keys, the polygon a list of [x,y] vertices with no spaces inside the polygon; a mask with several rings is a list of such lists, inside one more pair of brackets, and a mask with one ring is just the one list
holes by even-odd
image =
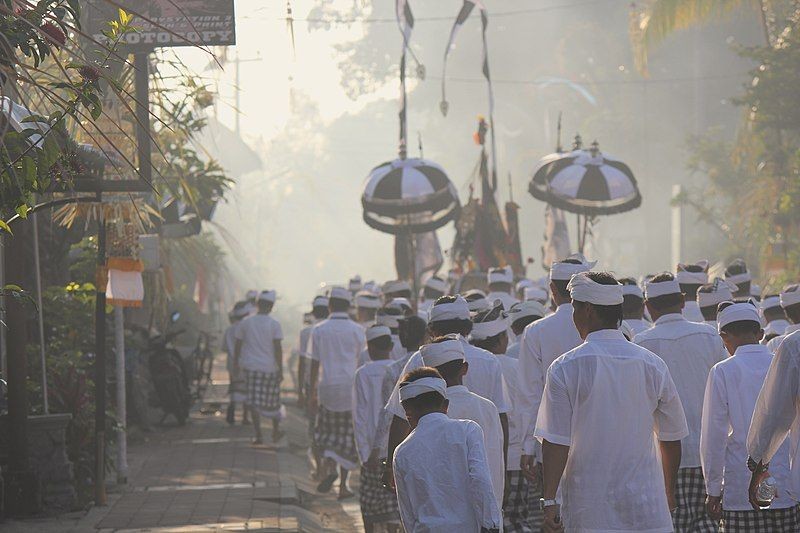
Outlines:
{"label": "right black-and-white ceremonial umbrella canopy, wider and tilted", "polygon": [[587,216],[636,209],[642,196],[631,169],[593,145],[544,157],[528,188],[534,198]]}

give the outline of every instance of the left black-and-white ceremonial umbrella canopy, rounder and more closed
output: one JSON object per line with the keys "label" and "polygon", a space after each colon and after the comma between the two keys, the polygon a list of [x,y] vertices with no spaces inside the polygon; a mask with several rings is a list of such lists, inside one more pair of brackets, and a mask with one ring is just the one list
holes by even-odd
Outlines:
{"label": "left black-and-white ceremonial umbrella canopy, rounder and more closed", "polygon": [[364,221],[392,235],[424,233],[458,217],[458,192],[444,169],[425,159],[395,159],[369,173]]}

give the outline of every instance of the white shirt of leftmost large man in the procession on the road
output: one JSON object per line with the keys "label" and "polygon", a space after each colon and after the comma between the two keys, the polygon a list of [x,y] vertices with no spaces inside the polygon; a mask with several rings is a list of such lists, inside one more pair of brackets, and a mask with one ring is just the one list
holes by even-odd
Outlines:
{"label": "white shirt of leftmost large man in the procession on the road", "polygon": [[319,403],[329,411],[349,411],[364,328],[347,313],[332,313],[311,331],[311,359],[319,361]]}

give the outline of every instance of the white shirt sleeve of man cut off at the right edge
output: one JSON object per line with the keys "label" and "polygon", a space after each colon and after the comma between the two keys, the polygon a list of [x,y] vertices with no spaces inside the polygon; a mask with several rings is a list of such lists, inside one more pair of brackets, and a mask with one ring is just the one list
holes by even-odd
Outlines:
{"label": "white shirt sleeve of man cut off at the right edge", "polygon": [[772,358],[764,385],[758,394],[747,433],[747,453],[754,461],[769,463],[788,436],[789,496],[800,498],[800,333],[792,333]]}

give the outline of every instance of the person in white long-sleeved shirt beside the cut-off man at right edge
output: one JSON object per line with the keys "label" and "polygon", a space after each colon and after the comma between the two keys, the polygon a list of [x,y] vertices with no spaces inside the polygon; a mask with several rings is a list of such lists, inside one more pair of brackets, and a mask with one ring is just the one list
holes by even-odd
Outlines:
{"label": "person in white long-sleeved shirt beside the cut-off man at right edge", "polygon": [[[719,332],[732,357],[711,369],[703,402],[700,459],[706,510],[714,520],[722,519],[724,531],[798,531],[797,502],[785,493],[769,509],[750,505],[747,431],[772,353],[759,344],[764,332],[755,305],[724,302],[719,307]],[[789,442],[781,445],[769,471],[778,487],[789,486]]]}

